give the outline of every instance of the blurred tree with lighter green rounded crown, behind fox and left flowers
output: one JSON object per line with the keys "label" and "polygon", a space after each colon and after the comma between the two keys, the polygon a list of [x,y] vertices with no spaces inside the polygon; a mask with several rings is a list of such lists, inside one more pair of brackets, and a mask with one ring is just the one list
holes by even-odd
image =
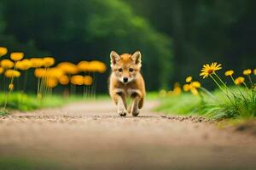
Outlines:
{"label": "blurred tree with lighter green rounded crown, behind fox and left flowers", "polygon": [[[2,0],[4,34],[53,54],[57,61],[101,59],[109,53],[143,54],[148,89],[167,86],[172,77],[172,41],[120,0]],[[2,40],[1,40],[2,41]],[[11,45],[12,48],[17,46]],[[38,53],[38,55],[42,55]],[[107,80],[107,75],[104,76]],[[154,77],[154,79],[153,79]],[[107,89],[105,83],[101,89]]]}

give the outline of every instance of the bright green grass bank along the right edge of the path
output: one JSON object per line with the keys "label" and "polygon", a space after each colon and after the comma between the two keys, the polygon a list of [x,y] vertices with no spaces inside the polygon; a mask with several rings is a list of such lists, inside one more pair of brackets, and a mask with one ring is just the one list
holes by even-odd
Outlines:
{"label": "bright green grass bank along the right edge of the path", "polygon": [[[160,98],[155,111],[166,114],[200,115],[211,119],[256,117],[256,95],[252,89],[230,88],[228,95],[220,90],[210,94],[194,96],[180,94]],[[228,96],[228,97],[227,97]]]}

